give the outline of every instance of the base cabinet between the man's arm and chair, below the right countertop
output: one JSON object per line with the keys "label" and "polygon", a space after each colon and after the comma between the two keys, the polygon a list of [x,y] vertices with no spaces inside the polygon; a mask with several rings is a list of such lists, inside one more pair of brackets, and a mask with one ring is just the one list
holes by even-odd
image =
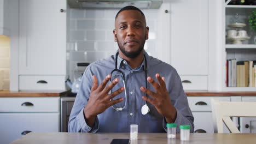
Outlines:
{"label": "base cabinet between the man's arm and chair, below the right countertop", "polygon": [[[230,97],[188,97],[189,107],[194,116],[194,133],[214,133],[211,98],[230,101]],[[224,133],[229,133],[224,127]]]}

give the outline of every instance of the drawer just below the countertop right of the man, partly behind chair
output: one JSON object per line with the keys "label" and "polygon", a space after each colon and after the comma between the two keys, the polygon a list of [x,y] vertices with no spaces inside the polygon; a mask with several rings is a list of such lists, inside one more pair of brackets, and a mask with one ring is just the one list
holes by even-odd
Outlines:
{"label": "drawer just below the countertop right of the man, partly behind chair", "polygon": [[211,98],[230,101],[230,97],[188,97],[191,111],[212,111]]}

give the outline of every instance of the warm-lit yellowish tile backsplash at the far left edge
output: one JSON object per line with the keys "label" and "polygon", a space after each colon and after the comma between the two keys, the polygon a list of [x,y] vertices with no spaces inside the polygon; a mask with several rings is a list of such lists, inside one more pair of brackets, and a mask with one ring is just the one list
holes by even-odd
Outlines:
{"label": "warm-lit yellowish tile backsplash at the far left edge", "polygon": [[9,89],[10,38],[0,35],[0,70],[4,71],[3,89]]}

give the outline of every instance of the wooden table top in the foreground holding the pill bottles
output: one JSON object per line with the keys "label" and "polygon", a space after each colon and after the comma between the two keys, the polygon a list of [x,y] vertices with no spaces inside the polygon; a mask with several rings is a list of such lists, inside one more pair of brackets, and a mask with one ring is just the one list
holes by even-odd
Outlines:
{"label": "wooden table top in the foreground holding the pill bottles", "polygon": [[[15,143],[98,143],[98,144],[109,144],[112,139],[129,139],[129,133],[29,133],[20,139],[12,142]],[[177,134],[176,139],[173,141],[166,138],[166,133],[138,133],[138,144],[187,144],[187,143],[196,143],[196,144],[211,144],[211,143],[220,143],[220,144],[249,144],[256,143],[256,134],[190,134],[189,141],[179,140],[179,134]]]}

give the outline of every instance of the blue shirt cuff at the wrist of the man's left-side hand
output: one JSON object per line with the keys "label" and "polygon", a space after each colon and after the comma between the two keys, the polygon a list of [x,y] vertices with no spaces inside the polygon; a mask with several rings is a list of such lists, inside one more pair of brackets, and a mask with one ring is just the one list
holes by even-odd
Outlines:
{"label": "blue shirt cuff at the wrist of the man's left-side hand", "polygon": [[94,122],[94,126],[90,127],[86,121],[85,121],[85,117],[84,117],[84,109],[82,109],[78,116],[78,124],[81,125],[81,130],[80,132],[82,133],[87,133],[87,132],[91,132],[91,133],[96,133],[98,131],[98,117],[96,117],[96,121]]}

